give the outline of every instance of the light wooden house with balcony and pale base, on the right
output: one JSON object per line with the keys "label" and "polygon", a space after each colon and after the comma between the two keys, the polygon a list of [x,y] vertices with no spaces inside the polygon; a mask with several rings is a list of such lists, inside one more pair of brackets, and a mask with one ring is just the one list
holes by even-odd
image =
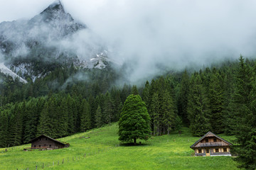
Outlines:
{"label": "light wooden house with balcony and pale base, on the right", "polygon": [[231,156],[230,146],[232,145],[213,132],[207,132],[206,135],[191,145],[191,149],[195,150],[196,156]]}

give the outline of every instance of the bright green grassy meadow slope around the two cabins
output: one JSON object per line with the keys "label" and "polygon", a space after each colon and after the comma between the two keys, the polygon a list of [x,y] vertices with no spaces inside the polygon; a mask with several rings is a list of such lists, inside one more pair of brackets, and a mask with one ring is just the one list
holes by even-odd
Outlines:
{"label": "bright green grassy meadow slope around the two cabins", "polygon": [[[114,124],[64,137],[60,141],[69,142],[70,147],[53,151],[23,152],[14,148],[3,153],[0,149],[0,169],[36,169],[36,165],[42,169],[43,163],[44,169],[237,169],[231,157],[191,157],[190,146],[198,137],[192,137],[186,128],[182,135],[174,132],[169,136],[152,137],[142,142],[143,145],[120,147],[117,146],[117,130]],[[90,139],[80,138],[82,136],[90,136]]]}

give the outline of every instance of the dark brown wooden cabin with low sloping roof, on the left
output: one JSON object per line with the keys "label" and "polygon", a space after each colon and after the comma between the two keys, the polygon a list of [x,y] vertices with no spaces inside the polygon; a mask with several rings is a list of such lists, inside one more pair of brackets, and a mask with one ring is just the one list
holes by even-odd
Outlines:
{"label": "dark brown wooden cabin with low sloping roof, on the left", "polygon": [[69,147],[69,144],[54,140],[52,137],[48,137],[46,135],[40,135],[30,142],[31,149],[59,149]]}

